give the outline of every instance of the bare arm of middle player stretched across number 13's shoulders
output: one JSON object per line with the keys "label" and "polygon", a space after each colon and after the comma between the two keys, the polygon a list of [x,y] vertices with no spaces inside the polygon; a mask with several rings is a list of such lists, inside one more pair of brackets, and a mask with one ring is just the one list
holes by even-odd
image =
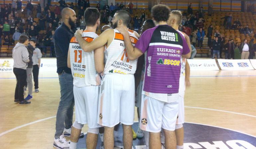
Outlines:
{"label": "bare arm of middle player stretched across number 13's shoulders", "polygon": [[108,43],[108,41],[111,42],[114,36],[114,30],[108,29],[105,30],[102,34],[100,34],[100,36],[94,39],[92,42],[88,43],[82,38],[82,33],[82,29],[77,29],[74,35],[76,37],[77,42],[85,52],[90,52],[94,49],[104,46],[106,43]]}

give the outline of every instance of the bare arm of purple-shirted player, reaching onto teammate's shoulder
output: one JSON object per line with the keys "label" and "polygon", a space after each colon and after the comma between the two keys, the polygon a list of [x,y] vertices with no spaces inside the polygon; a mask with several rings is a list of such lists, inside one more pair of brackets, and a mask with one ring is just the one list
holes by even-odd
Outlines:
{"label": "bare arm of purple-shirted player, reaching onto teammate's shoulder", "polygon": [[124,36],[124,46],[128,59],[131,61],[138,59],[143,53],[140,49],[133,47],[128,30],[122,27],[116,29]]}

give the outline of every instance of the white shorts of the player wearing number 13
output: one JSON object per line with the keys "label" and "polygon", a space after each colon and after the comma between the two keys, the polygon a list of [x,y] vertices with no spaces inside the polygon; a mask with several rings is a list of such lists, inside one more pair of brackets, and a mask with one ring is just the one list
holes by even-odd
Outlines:
{"label": "white shorts of the player wearing number 13", "polygon": [[101,127],[97,124],[99,86],[73,87],[75,99],[75,120],[88,124],[89,128]]}

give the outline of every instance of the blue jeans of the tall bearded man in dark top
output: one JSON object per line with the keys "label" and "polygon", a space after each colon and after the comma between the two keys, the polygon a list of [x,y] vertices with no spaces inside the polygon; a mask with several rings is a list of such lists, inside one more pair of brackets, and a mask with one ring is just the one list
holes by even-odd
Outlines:
{"label": "blue jeans of the tall bearded man in dark top", "polygon": [[[56,115],[55,138],[59,138],[66,129],[71,128],[74,110],[73,77],[71,74],[59,74],[61,101]],[[65,123],[65,124],[64,124]]]}

